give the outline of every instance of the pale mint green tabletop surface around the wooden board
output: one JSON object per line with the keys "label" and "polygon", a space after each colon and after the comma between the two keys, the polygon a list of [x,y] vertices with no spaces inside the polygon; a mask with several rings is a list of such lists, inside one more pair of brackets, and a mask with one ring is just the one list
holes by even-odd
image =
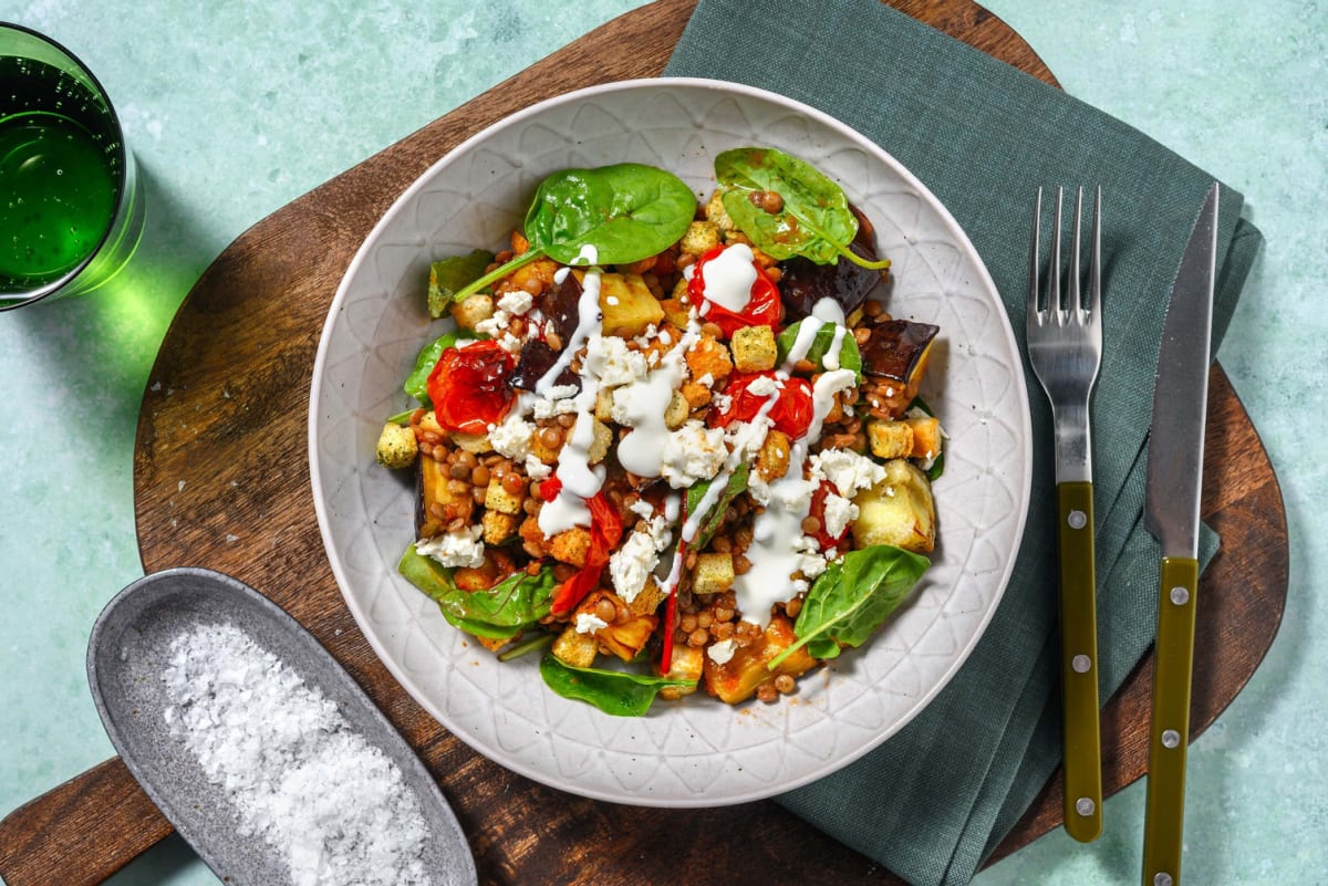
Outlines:
{"label": "pale mint green tabletop surface around the wooden board", "polygon": [[[138,405],[197,277],[274,210],[635,5],[0,0],[0,19],[50,33],[102,80],[149,200],[124,296],[0,314],[0,814],[112,755],[84,651],[142,576]],[[1191,751],[1186,874],[1328,882],[1328,596],[1312,586],[1328,574],[1313,517],[1328,500],[1328,5],[987,5],[1069,93],[1243,191],[1267,237],[1218,357],[1279,471],[1291,585],[1272,651]],[[1056,832],[976,882],[1137,882],[1142,783],[1105,813],[1096,844]],[[173,838],[113,882],[216,879]]]}

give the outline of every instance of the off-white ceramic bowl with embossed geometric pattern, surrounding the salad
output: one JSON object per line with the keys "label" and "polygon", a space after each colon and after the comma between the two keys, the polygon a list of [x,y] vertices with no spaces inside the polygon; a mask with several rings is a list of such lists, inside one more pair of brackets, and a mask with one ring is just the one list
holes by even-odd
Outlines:
{"label": "off-white ceramic bowl with embossed geometric pattern, surrounding the salad", "polygon": [[[790,151],[838,180],[891,259],[887,308],[939,324],[923,394],[950,434],[931,570],[862,650],[778,704],[732,708],[704,691],[623,719],[547,690],[531,655],[502,664],[397,574],[413,541],[408,472],[373,463],[401,381],[432,338],[429,261],[497,248],[537,184],[627,160],[708,196],[713,158]],[[436,334],[437,330],[433,330]],[[895,733],[955,674],[1009,578],[1028,508],[1029,418],[1020,355],[995,285],[935,196],[870,141],[758,89],[704,80],[611,84],[535,105],[458,146],[364,241],[323,330],[309,411],[319,525],[347,605],[406,691],[481,753],[572,793],[655,806],[768,797],[843,767]]]}

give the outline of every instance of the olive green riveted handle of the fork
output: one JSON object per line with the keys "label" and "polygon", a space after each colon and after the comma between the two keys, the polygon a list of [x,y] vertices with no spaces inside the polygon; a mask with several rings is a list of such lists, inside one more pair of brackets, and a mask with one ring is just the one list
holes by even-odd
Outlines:
{"label": "olive green riveted handle of the fork", "polygon": [[1102,833],[1093,484],[1058,483],[1056,499],[1061,553],[1065,830],[1074,840],[1089,842]]}

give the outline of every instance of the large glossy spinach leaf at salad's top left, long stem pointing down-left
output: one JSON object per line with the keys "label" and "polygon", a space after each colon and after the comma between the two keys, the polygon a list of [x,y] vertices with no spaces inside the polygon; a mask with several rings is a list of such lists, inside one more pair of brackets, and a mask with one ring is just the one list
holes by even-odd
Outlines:
{"label": "large glossy spinach leaf at salad's top left, long stem pointing down-left", "polygon": [[542,256],[571,264],[595,247],[596,264],[640,261],[676,243],[696,214],[696,195],[672,172],[641,163],[554,172],[526,212],[530,247],[462,288],[462,300]]}

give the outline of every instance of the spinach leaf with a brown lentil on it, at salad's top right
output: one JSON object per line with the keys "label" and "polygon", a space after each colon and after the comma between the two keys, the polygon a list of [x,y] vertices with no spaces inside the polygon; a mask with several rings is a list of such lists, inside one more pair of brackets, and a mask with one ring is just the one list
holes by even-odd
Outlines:
{"label": "spinach leaf with a brown lentil on it, at salad's top right", "polygon": [[[888,268],[849,248],[858,233],[858,218],[843,188],[817,167],[773,147],[736,147],[714,158],[714,179],[724,210],[752,243],[774,259],[803,256],[834,264],[839,256],[863,268]],[[750,200],[773,191],[784,199],[780,212],[766,212]]]}

